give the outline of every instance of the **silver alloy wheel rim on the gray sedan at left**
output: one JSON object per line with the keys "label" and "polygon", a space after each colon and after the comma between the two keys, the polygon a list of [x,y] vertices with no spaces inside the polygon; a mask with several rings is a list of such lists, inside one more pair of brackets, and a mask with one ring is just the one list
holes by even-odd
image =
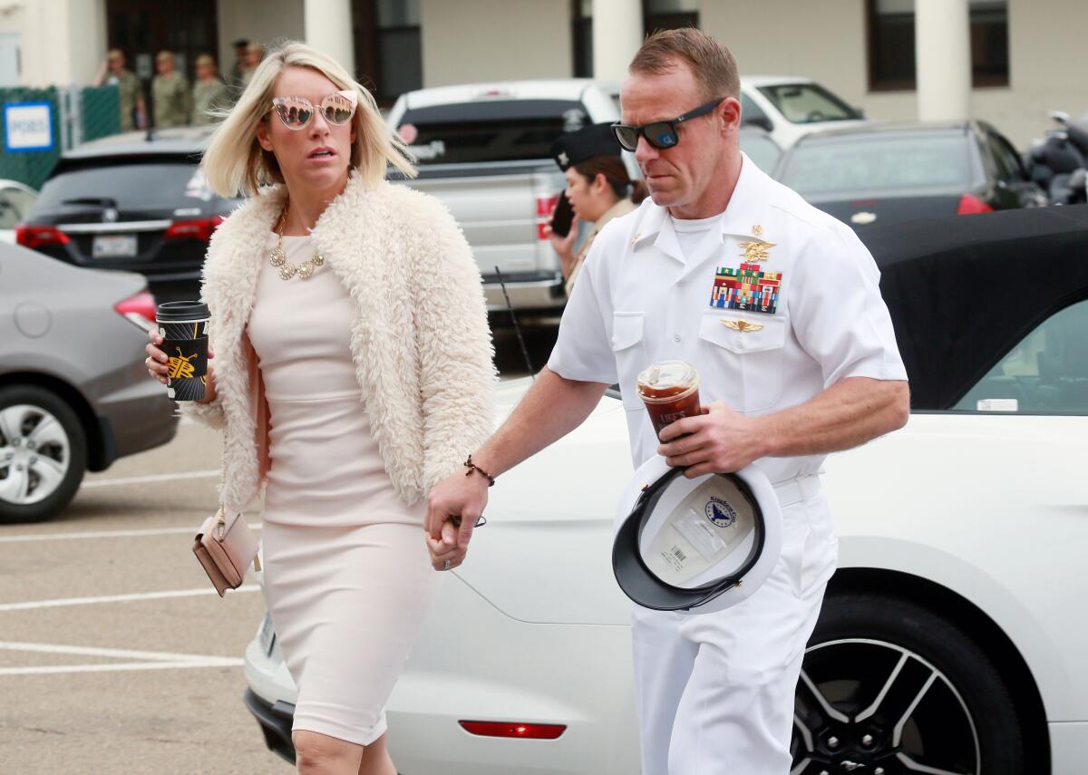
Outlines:
{"label": "silver alloy wheel rim on the gray sedan at left", "polygon": [[57,492],[72,463],[71,442],[54,415],[32,404],[0,409],[0,501],[39,503]]}

